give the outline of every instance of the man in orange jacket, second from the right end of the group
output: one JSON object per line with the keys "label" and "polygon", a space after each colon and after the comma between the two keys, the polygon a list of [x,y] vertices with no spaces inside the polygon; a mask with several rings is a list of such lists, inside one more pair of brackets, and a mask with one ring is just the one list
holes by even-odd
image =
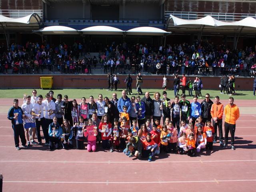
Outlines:
{"label": "man in orange jacket, second from the right end of the group", "polygon": [[223,112],[224,112],[224,106],[220,102],[220,97],[216,96],[214,98],[214,104],[212,104],[212,108],[211,108],[212,125],[214,127],[213,143],[217,142],[217,126],[218,126],[220,146],[222,146],[222,142],[223,142],[223,133],[222,133]]}

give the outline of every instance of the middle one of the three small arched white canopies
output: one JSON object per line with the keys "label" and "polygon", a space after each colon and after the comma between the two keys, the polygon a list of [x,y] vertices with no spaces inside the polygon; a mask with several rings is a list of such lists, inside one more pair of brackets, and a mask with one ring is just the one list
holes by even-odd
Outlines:
{"label": "middle one of the three small arched white canopies", "polygon": [[104,34],[104,35],[122,35],[123,30],[110,26],[92,26],[80,30],[83,34]]}

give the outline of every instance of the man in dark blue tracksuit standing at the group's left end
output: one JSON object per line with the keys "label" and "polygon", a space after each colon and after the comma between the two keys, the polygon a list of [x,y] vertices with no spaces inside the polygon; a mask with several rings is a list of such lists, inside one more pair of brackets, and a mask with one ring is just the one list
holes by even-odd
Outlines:
{"label": "man in dark blue tracksuit standing at the group's left end", "polygon": [[11,107],[8,111],[8,119],[12,121],[12,129],[14,131],[14,142],[15,147],[17,150],[20,150],[19,147],[19,136],[22,143],[22,147],[26,148],[26,138],[25,138],[25,132],[23,127],[23,116],[24,112],[22,109],[18,106],[19,101],[18,99],[13,100],[13,107]]}

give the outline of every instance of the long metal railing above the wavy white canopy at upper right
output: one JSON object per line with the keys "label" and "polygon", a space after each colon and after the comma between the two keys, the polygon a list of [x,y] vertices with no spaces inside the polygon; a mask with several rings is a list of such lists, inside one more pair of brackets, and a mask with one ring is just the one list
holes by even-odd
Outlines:
{"label": "long metal railing above the wavy white canopy at upper right", "polygon": [[219,20],[219,21],[226,21],[226,22],[234,22],[242,20],[246,17],[252,17],[256,19],[256,14],[250,13],[215,13],[215,12],[185,12],[185,11],[165,11],[164,18],[167,20],[172,14],[175,17],[181,19],[200,19],[205,16],[212,16],[212,18]]}

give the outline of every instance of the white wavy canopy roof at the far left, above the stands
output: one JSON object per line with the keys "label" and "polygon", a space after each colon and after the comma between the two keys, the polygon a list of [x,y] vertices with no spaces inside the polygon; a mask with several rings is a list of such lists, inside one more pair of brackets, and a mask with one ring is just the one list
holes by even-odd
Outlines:
{"label": "white wavy canopy roof at the far left, above the stands", "polygon": [[30,24],[30,23],[39,23],[39,22],[40,22],[40,17],[36,13],[32,13],[28,16],[21,17],[21,18],[9,18],[9,17],[0,15],[0,23]]}

